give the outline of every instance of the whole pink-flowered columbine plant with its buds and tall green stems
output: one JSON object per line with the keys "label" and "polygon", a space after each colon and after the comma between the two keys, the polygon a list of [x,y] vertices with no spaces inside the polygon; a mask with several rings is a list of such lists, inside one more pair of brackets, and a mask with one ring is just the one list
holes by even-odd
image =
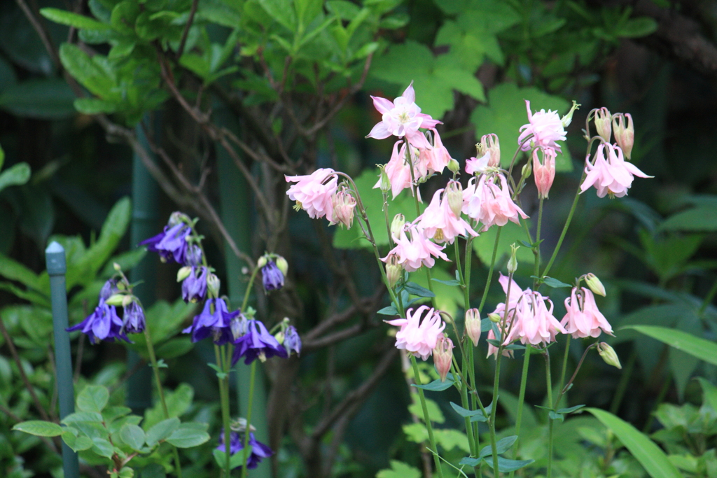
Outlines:
{"label": "whole pink-flowered columbine plant with its buds and tall green stems", "polygon": [[[580,186],[567,217],[566,224],[554,246],[547,264],[543,266],[541,257],[541,225],[543,220],[543,203],[549,199],[549,192],[555,178],[556,156],[562,153],[560,141],[566,139],[565,128],[571,122],[574,110],[579,105],[573,103],[569,113],[562,118],[555,111],[541,110],[533,113],[530,102],[526,101],[528,123],[521,127],[516,153],[513,155],[507,170],[500,164],[500,142],[495,134],[485,135],[477,146],[475,158],[465,161],[465,173],[470,176],[465,181],[465,187],[460,182],[460,164],[450,158],[442,145],[437,130],[439,121],[429,115],[421,113],[415,100],[412,85],[404,91],[403,95],[393,102],[381,97],[373,97],[376,110],[382,115],[381,122],[371,130],[368,138],[384,139],[395,136],[393,152],[388,163],[379,166],[379,181],[374,188],[380,188],[384,198],[385,226],[389,234],[389,250],[381,252],[376,245],[373,229],[375,226],[369,222],[366,209],[361,196],[351,177],[345,173],[334,171],[331,168],[319,169],[306,176],[286,176],[291,186],[288,196],[296,201],[295,209],[304,209],[309,216],[315,219],[326,217],[330,224],[342,224],[350,227],[356,214],[359,228],[369,240],[374,250],[376,264],[379,266],[384,278],[386,289],[391,297],[391,306],[385,307],[379,313],[397,315],[398,318],[386,320],[386,323],[398,327],[396,331],[396,347],[407,354],[412,368],[408,376],[417,387],[419,401],[422,405],[424,424],[426,426],[428,450],[432,453],[435,469],[439,477],[443,476],[441,456],[437,442],[432,431],[428,415],[427,403],[423,391],[429,389],[440,391],[455,386],[460,392],[461,405],[452,403],[453,408],[465,420],[465,431],[470,446],[469,456],[457,464],[447,463],[448,466],[459,470],[465,476],[463,469],[473,467],[476,477],[483,476],[483,468],[493,469],[489,476],[498,476],[498,472],[513,473],[533,462],[531,459],[518,460],[517,446],[511,459],[501,457],[508,453],[516,443],[521,431],[521,412],[526,391],[529,358],[532,354],[542,355],[546,360],[546,388],[547,402],[549,404],[549,440],[548,461],[546,474],[552,474],[552,436],[553,422],[562,419],[581,406],[571,408],[557,408],[564,393],[574,381],[582,360],[578,364],[573,376],[565,383],[567,354],[570,339],[566,340],[561,376],[557,384],[559,394],[552,396],[556,382],[551,377],[550,348],[560,334],[571,335],[572,338],[597,338],[602,333],[612,335],[612,327],[597,307],[594,294],[605,295],[604,287],[594,274],[584,274],[576,279],[572,286],[570,296],[565,300],[567,313],[561,320],[554,315],[554,303],[541,287],[571,287],[548,273],[556,259],[565,234],[571,223],[577,201],[581,193],[594,186],[599,197],[622,197],[632,186],[635,176],[647,178],[640,169],[630,163],[630,152],[634,138],[632,118],[630,115],[618,113],[612,115],[606,108],[592,110],[585,128],[587,139],[587,157]],[[598,134],[590,135],[589,123],[594,122]],[[616,143],[609,142],[612,129]],[[597,148],[593,153],[593,146]],[[516,176],[520,162],[523,161],[521,153],[526,153],[526,162],[521,173]],[[626,160],[627,158],[627,160]],[[422,201],[419,184],[437,176],[440,181],[441,174],[448,168],[452,177],[445,186],[438,188],[422,211]],[[536,221],[536,235],[533,237],[526,224],[527,214],[520,206],[521,191],[530,176],[536,184],[538,191],[538,219]],[[409,189],[414,198],[416,216],[413,221],[407,221],[402,214],[397,214],[392,220],[389,215],[389,191],[394,199]],[[508,275],[500,274],[498,282],[503,287],[505,300],[495,307],[488,317],[480,319],[481,311],[485,305],[488,289],[495,268],[495,252],[500,241],[500,228],[512,221],[524,226],[526,231],[526,244],[531,247],[535,255],[533,264],[533,285],[521,289],[513,279],[518,262],[516,247],[508,260]],[[478,307],[473,306],[470,297],[470,254],[473,252],[471,242],[481,232],[496,227],[493,260],[490,264],[488,279],[483,287]],[[465,248],[459,246],[462,239]],[[436,260],[448,261],[445,254],[446,247],[455,249],[456,280],[451,285],[460,287],[464,296],[465,320],[463,330],[459,330],[456,320],[446,312],[437,310],[435,294],[432,290],[424,289],[414,282],[410,282],[410,274],[424,273],[427,276],[429,289],[431,288],[431,272]],[[461,250],[465,254],[461,254]],[[465,264],[462,265],[462,264]],[[423,271],[420,271],[423,269]],[[270,281],[271,282],[271,281]],[[587,287],[581,287],[585,282]],[[417,297],[411,298],[414,295]],[[412,306],[417,300],[432,300],[429,305]],[[450,325],[450,326],[447,326]],[[493,382],[492,401],[484,406],[483,393],[478,388],[474,368],[474,348],[480,345],[480,335],[487,331],[487,350],[484,353],[495,358],[495,375]],[[453,355],[455,346],[460,350],[459,360]],[[586,349],[585,354],[597,348],[599,354],[610,365],[619,368],[619,360],[614,350],[607,343],[593,343]],[[523,374],[521,388],[518,396],[516,436],[496,438],[494,404],[498,398],[498,381],[500,378],[500,364],[503,357],[512,358],[516,350],[524,350]],[[433,357],[439,380],[436,383],[424,385],[421,383],[421,373],[417,365],[417,358],[427,360]],[[583,356],[583,358],[585,355]],[[478,434],[479,422],[488,424],[488,447],[480,446],[481,436]],[[498,472],[495,472],[498,470]]]}

